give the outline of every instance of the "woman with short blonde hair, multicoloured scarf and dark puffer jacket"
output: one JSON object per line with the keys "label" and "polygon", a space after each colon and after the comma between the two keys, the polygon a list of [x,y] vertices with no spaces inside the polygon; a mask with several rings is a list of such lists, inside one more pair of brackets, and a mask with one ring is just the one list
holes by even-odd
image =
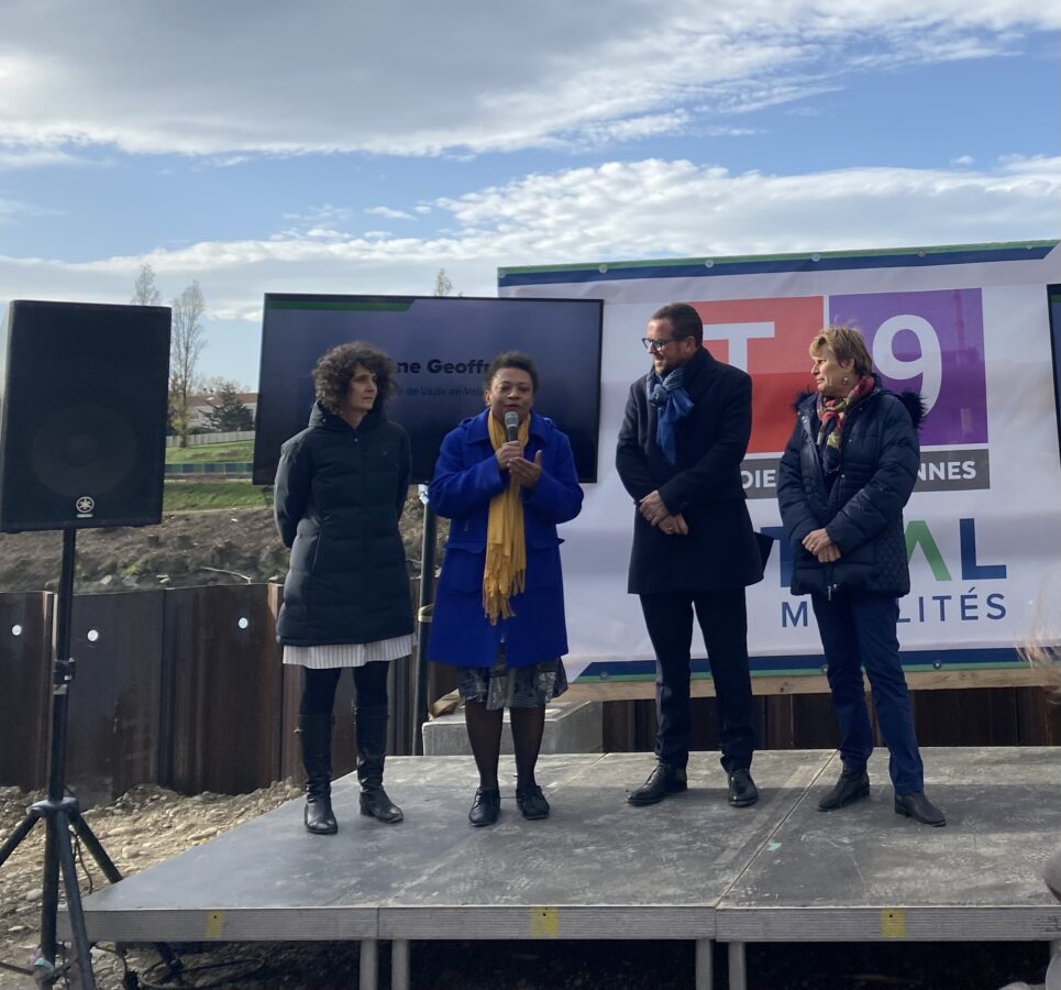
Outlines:
{"label": "woman with short blonde hair, multicoloured scarf and dark puffer jacket", "polygon": [[873,749],[865,667],[895,788],[895,811],[944,825],[925,796],[925,771],[896,637],[910,590],[903,507],[917,481],[919,396],[882,388],[865,341],[827,327],[810,344],[817,394],[796,406],[777,499],[795,557],[793,594],[809,594],[821,634],[843,770],[818,803],[833,811],[870,793]]}

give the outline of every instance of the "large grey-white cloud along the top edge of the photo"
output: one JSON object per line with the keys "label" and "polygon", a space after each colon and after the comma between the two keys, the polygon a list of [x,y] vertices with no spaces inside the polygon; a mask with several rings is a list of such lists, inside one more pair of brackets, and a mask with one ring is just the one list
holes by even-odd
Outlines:
{"label": "large grey-white cloud along the top edge of the photo", "polygon": [[[476,153],[682,133],[860,67],[1019,51],[1040,0],[263,4],[7,0],[0,141],[212,156]],[[717,120],[703,121],[718,124]]]}

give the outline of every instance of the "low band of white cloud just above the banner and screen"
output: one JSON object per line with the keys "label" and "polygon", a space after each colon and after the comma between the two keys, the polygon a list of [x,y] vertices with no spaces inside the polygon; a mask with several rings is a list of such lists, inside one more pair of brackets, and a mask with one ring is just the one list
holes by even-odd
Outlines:
{"label": "low band of white cloud just above the banner and screen", "polygon": [[165,293],[198,278],[213,316],[257,319],[265,292],[425,294],[440,266],[457,292],[493,295],[498,266],[1048,239],[1059,196],[1061,158],[791,176],[611,162],[439,199],[452,232],[429,238],[294,227],[84,263],[0,257],[0,298],[62,285],[67,298],[123,299],[146,261]]}

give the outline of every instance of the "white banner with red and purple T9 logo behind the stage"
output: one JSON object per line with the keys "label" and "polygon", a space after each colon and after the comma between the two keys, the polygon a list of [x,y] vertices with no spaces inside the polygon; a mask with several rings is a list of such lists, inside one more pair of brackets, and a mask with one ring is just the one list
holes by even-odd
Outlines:
{"label": "white banner with red and purple T9 logo behind the stage", "polygon": [[[676,301],[699,311],[716,358],[752,375],[744,484],[756,529],[780,532],[776,465],[792,404],[811,387],[807,349],[818,329],[858,326],[884,383],[921,393],[921,479],[905,513],[913,580],[900,602],[905,663],[1015,662],[1031,604],[1061,562],[1047,293],[1061,283],[1054,243],[515,268],[498,280],[505,296],[605,300],[599,482],[586,486],[582,515],[561,534],[570,675],[643,675],[653,656],[626,590],[634,509],[614,453],[630,383],[649,369],[640,338],[653,310]],[[563,426],[563,409],[540,411]],[[817,670],[820,662],[809,600],[788,593],[788,565],[778,542],[765,580],[749,588],[756,672]]]}

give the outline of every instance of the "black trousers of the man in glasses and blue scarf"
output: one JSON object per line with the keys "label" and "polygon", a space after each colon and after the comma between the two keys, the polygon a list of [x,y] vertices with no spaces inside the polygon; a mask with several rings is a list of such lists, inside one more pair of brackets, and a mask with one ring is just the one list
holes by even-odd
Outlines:
{"label": "black trousers of the man in glasses and blue scarf", "polygon": [[728,773],[748,769],[755,749],[755,727],[744,588],[640,597],[655,650],[656,758],[672,767],[688,763],[689,659],[695,609],[715,680],[722,767]]}

